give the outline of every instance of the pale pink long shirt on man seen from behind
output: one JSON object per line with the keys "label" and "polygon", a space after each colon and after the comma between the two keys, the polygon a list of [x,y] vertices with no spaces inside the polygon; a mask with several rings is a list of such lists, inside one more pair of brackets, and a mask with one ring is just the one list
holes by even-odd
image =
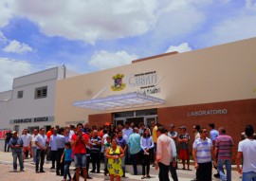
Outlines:
{"label": "pale pink long shirt on man seen from behind", "polygon": [[172,140],[169,136],[164,134],[157,138],[156,143],[156,157],[160,158],[162,164],[168,166],[170,165],[172,158]]}

